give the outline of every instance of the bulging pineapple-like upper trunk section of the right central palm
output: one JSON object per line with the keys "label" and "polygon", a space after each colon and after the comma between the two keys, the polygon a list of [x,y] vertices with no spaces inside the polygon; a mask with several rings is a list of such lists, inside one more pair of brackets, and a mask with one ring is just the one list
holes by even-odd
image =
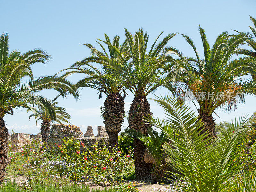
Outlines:
{"label": "bulging pineapple-like upper trunk section of the right central palm", "polygon": [[129,128],[146,133],[150,125],[144,124],[145,117],[151,115],[150,104],[145,97],[135,97],[129,111]]}

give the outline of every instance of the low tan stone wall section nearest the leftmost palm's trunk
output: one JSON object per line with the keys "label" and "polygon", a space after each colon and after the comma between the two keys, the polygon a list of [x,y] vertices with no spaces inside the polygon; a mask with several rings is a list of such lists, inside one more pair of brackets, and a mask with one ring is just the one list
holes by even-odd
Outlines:
{"label": "low tan stone wall section nearest the leftmost palm's trunk", "polygon": [[29,134],[25,133],[14,133],[11,135],[11,146],[12,150],[18,150],[20,151],[21,148],[29,143]]}

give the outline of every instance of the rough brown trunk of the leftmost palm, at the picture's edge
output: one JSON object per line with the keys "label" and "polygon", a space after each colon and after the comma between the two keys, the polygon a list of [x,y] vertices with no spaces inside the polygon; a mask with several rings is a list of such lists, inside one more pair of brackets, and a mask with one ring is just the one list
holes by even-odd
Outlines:
{"label": "rough brown trunk of the leftmost palm, at the picture's edge", "polygon": [[0,118],[0,184],[4,181],[6,166],[9,164],[8,136],[8,129],[5,126],[4,119]]}

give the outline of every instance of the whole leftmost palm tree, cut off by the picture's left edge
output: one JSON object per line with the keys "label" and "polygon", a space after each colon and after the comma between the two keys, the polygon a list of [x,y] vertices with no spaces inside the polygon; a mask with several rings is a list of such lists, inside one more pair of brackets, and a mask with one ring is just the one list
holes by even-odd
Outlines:
{"label": "whole leftmost palm tree, cut off by the picture's left edge", "polygon": [[[6,114],[13,115],[15,108],[29,108],[36,113],[34,105],[44,106],[55,118],[55,111],[49,100],[36,93],[44,89],[55,89],[59,92],[68,91],[78,97],[76,87],[69,81],[54,76],[33,78],[30,65],[45,63],[50,57],[40,49],[26,53],[17,50],[9,54],[8,34],[0,37],[0,184],[3,182],[8,159],[8,129],[4,122]],[[22,82],[24,77],[29,80]]]}

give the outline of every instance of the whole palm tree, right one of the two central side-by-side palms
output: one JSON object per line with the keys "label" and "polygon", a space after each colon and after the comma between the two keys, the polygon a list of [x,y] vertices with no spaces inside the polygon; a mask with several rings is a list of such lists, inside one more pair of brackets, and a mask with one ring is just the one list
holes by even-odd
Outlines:
{"label": "whole palm tree, right one of the two central side-by-side palms", "polygon": [[[149,93],[154,92],[159,87],[165,87],[173,93],[172,79],[170,75],[167,75],[172,68],[172,64],[169,64],[172,57],[163,55],[162,51],[168,41],[175,35],[176,33],[167,35],[156,45],[159,39],[158,36],[147,53],[148,34],[144,34],[141,28],[132,36],[125,29],[131,59],[126,60],[122,53],[116,50],[123,65],[111,62],[104,63],[104,65],[122,74],[124,86],[134,95],[128,115],[130,129],[136,129],[143,134],[147,134],[151,127],[144,124],[145,117],[152,115],[150,105],[146,99]],[[150,166],[143,160],[145,149],[145,145],[140,140],[134,139],[134,165],[137,178],[144,178],[150,174]]]}

